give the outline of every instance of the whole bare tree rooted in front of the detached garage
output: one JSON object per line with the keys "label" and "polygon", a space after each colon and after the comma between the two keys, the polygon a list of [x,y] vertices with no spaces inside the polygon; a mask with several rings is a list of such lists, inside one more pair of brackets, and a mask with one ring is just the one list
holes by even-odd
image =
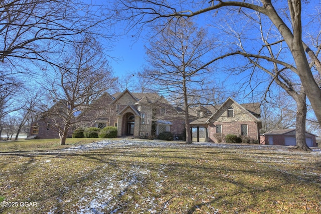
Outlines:
{"label": "whole bare tree rooted in front of the detached garage", "polygon": [[[251,24],[253,26],[257,26],[262,40],[261,47],[258,49],[258,52],[254,54],[253,52],[256,50],[253,50],[252,46],[247,47],[244,44],[246,39],[243,38],[242,33],[233,32],[233,30],[231,30],[235,34],[234,36],[238,41],[236,48],[240,49],[240,51],[236,51],[235,53],[246,57],[253,65],[253,69],[250,74],[251,78],[253,78],[255,70],[264,71],[272,77],[267,90],[269,90],[269,86],[272,84],[272,82],[275,82],[295,100],[296,145],[299,149],[309,150],[305,142],[305,123],[307,113],[306,95],[304,89],[301,87],[300,79],[295,74],[297,73],[297,68],[286,62],[282,56],[281,53],[283,49],[286,48],[284,48],[282,44],[275,44],[274,41],[278,42],[278,35],[273,33],[273,26],[266,25],[266,23],[264,23],[264,21],[261,19],[260,13],[253,13],[245,16],[251,18]],[[233,33],[230,32],[229,34]],[[264,58],[258,57],[263,55],[261,53],[264,53]],[[294,74],[291,74],[289,71],[294,72]]]}

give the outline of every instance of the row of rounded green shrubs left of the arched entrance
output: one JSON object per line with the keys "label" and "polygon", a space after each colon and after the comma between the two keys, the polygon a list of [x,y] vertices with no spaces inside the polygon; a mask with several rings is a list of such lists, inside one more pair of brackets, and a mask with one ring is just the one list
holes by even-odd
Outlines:
{"label": "row of rounded green shrubs left of the arched entrance", "polygon": [[116,138],[117,128],[108,126],[103,129],[89,127],[87,129],[76,129],[72,134],[73,138]]}

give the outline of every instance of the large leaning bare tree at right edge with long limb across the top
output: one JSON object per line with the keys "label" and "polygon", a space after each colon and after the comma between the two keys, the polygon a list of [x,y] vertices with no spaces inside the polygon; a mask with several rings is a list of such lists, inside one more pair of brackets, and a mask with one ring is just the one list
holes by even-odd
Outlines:
{"label": "large leaning bare tree at right edge with long limb across the top", "polygon": [[[308,1],[303,2],[306,5],[309,4]],[[180,1],[168,3],[167,1],[122,0],[117,7],[117,11],[122,15],[122,17],[120,17],[121,19],[131,21],[133,26],[140,24],[140,27],[149,24],[153,25],[157,20],[163,19],[163,23],[167,23],[169,18],[189,18],[201,14],[211,14],[216,11],[220,12],[224,9],[235,9],[232,13],[241,14],[242,16],[244,14],[249,15],[251,12],[258,12],[259,14],[264,15],[281,38],[279,41],[270,43],[269,46],[285,43],[288,47],[284,49],[285,54],[292,57],[289,57],[290,61],[287,62],[287,64],[289,65],[292,61],[294,62],[296,69],[292,69],[291,71],[298,75],[318,123],[321,125],[321,108],[319,107],[321,106],[321,89],[313,75],[314,70],[310,67],[310,65],[313,65],[313,68],[317,70],[318,74],[321,74],[321,63],[317,59],[319,48],[313,51],[311,47],[307,46],[302,38],[302,33],[305,32],[308,34],[310,25],[307,25],[306,27],[302,26],[301,17],[304,16],[304,18],[307,19],[310,14],[301,14],[303,13],[303,10],[302,3],[299,0],[287,1],[286,8],[283,8],[283,6],[284,5],[279,1],[272,2],[270,0],[210,1],[209,3],[208,1],[201,1],[198,3],[195,3],[195,1],[187,1],[184,2],[184,4],[181,4]],[[307,7],[312,7],[312,5]],[[308,13],[310,13],[310,11]],[[214,15],[213,17],[215,19]],[[248,18],[251,19],[250,16]],[[215,22],[215,20],[213,22]],[[315,22],[315,20],[311,20],[311,22]],[[238,52],[230,54],[238,54]],[[226,55],[223,55],[222,57]],[[276,59],[266,57],[264,52],[261,52],[256,56],[251,55],[251,57],[265,59],[281,65],[283,64],[283,62],[279,62]]]}

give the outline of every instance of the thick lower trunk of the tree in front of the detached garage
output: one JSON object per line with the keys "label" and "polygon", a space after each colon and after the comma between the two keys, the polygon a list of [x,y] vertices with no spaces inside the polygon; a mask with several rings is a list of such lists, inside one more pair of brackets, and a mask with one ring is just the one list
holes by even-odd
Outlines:
{"label": "thick lower trunk of the tree in front of the detached garage", "polygon": [[306,145],[305,141],[305,119],[307,112],[305,100],[304,93],[299,94],[296,100],[295,140],[297,149],[310,151],[311,149]]}

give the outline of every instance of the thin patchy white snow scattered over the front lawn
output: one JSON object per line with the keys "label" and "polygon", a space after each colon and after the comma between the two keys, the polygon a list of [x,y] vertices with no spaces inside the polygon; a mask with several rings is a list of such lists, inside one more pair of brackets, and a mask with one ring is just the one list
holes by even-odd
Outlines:
{"label": "thin patchy white snow scattered over the front lawn", "polygon": [[[259,150],[280,150],[285,153],[288,152],[288,149],[291,147],[288,146],[274,146],[274,145],[246,145],[246,144],[218,144],[218,143],[202,143],[195,142],[193,144],[185,144],[184,142],[164,142],[164,141],[145,141],[145,140],[135,140],[135,139],[118,139],[118,140],[102,140],[99,142],[94,142],[90,144],[79,145],[76,147],[69,147],[61,150],[52,150],[41,153],[56,154],[56,153],[73,153],[81,151],[89,151],[95,149],[104,149],[104,148],[121,148],[121,147],[155,147],[155,148],[189,148],[189,147],[213,147],[213,148],[242,148],[242,149],[259,149]],[[240,150],[240,152],[246,152]],[[17,152],[19,153],[19,152]],[[300,153],[300,152],[298,152]],[[296,153],[296,154],[298,154]],[[312,154],[320,155],[321,148],[312,148]],[[3,153],[4,154],[4,153]],[[13,154],[13,153],[11,153]],[[32,155],[33,153],[31,153]],[[38,153],[35,152],[35,155]],[[256,156],[257,154],[253,154]],[[281,154],[280,154],[281,155]],[[298,154],[299,155],[299,154]],[[281,155],[282,156],[282,155]],[[265,159],[260,157],[258,162],[282,162],[290,163],[290,160],[286,156],[278,160],[273,160],[270,157],[266,156]],[[50,162],[50,160],[46,160]],[[108,167],[107,164],[104,167]],[[163,173],[163,166],[159,169],[159,173]],[[132,169],[126,172],[118,171],[115,174],[105,174],[103,178],[96,181],[93,185],[87,186],[84,192],[84,196],[79,199],[76,206],[79,207],[77,213],[117,213],[119,208],[123,205],[121,201],[121,196],[124,195],[127,191],[131,191],[135,188],[138,188],[141,185],[144,175],[148,174],[149,170],[144,167],[139,167],[133,165]],[[121,176],[119,176],[121,175]],[[164,175],[163,175],[164,176]],[[117,191],[115,191],[117,189]],[[155,191],[161,191],[163,189],[162,181],[155,182]],[[86,194],[87,193],[87,194]],[[90,195],[90,196],[89,196]],[[155,198],[145,198],[145,202],[148,203],[149,213],[155,213],[156,210],[159,210],[159,206],[154,203]],[[137,207],[139,204],[135,204]],[[53,207],[49,213],[55,213],[57,207]]]}

